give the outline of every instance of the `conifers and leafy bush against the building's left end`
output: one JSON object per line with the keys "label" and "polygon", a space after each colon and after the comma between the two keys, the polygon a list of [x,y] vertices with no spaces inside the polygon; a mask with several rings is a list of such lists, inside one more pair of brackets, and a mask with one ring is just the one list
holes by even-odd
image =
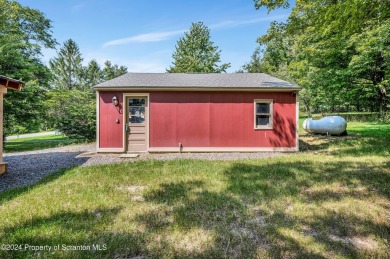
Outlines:
{"label": "conifers and leafy bush against the building's left end", "polygon": [[96,60],[82,65],[76,42],[69,39],[49,61],[53,89],[48,92],[47,113],[53,127],[72,138],[94,140],[96,136],[96,95],[93,86],[127,73],[124,66],[110,61],[101,68]]}

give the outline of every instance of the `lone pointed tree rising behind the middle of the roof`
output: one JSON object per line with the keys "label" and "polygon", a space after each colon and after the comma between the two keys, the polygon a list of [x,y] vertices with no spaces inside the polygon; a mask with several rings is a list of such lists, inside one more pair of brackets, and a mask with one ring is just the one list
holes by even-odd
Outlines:
{"label": "lone pointed tree rising behind the middle of the roof", "polygon": [[169,73],[221,73],[226,72],[230,63],[221,62],[217,46],[210,41],[210,30],[202,22],[193,23],[184,37],[179,39],[173,53]]}

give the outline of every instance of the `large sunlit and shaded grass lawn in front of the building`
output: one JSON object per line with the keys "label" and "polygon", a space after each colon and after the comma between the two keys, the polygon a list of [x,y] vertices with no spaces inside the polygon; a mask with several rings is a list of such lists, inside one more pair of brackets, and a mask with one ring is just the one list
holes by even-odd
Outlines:
{"label": "large sunlit and shaded grass lawn in front of the building", "polygon": [[[390,125],[302,134],[299,154],[74,168],[0,194],[1,258],[388,258]],[[69,248],[69,247],[67,247]]]}

